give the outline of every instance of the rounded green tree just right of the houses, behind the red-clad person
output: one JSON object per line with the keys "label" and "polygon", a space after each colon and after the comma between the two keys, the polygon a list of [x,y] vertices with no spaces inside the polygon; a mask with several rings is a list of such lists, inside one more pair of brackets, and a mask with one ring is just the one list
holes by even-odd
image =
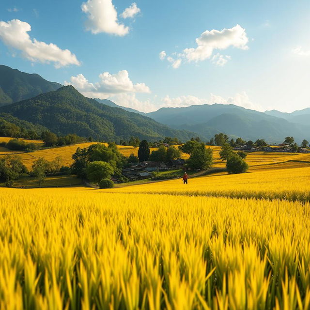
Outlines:
{"label": "rounded green tree just right of the houses, behind the red-clad person", "polygon": [[193,169],[206,170],[213,163],[212,154],[212,149],[206,149],[204,143],[200,143],[187,159],[187,164]]}

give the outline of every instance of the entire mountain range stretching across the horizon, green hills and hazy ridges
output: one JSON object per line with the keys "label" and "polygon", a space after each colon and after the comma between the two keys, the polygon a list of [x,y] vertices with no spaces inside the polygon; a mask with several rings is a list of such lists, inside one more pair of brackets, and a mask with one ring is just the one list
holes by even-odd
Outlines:
{"label": "entire mountain range stretching across the horizon, green hills and hazy ridges", "polygon": [[31,130],[39,125],[37,132],[47,128],[57,134],[76,133],[100,140],[131,136],[151,141],[166,136],[209,140],[219,132],[270,143],[282,142],[286,136],[298,143],[310,139],[310,108],[284,113],[204,104],[143,113],[108,99],[86,98],[72,86],[62,87],[4,65],[0,65],[0,119]]}

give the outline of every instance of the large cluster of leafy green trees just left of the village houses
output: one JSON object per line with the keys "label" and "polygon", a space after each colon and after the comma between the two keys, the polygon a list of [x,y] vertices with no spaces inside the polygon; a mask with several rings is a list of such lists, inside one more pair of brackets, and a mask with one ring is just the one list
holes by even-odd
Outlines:
{"label": "large cluster of leafy green trees just left of the village houses", "polygon": [[[110,142],[109,146],[98,143],[88,148],[77,148],[72,158],[74,162],[71,165],[71,172],[79,178],[87,178],[99,186],[101,180],[107,180],[111,175],[126,181],[123,180],[122,167],[127,163],[127,159],[119,152],[114,142]],[[105,181],[102,186],[108,183],[110,184],[109,181]]]}

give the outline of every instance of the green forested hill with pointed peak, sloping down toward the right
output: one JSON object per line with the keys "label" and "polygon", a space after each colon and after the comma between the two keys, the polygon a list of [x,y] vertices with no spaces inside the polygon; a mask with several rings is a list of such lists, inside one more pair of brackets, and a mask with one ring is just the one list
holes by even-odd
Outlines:
{"label": "green forested hill with pointed peak, sloping down toward the right", "polygon": [[137,113],[100,104],[84,97],[73,86],[0,107],[1,112],[44,125],[57,134],[75,133],[106,141],[129,139],[131,136],[150,141],[169,136],[186,141],[197,136],[185,130],[171,129]]}

